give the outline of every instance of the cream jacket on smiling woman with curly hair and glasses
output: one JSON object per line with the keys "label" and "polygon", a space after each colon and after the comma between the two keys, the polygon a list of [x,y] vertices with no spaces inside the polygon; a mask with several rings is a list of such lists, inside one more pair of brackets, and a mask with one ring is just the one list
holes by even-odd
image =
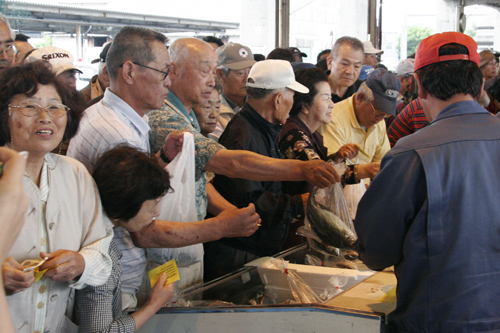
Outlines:
{"label": "cream jacket on smiling woman with curly hair and glasses", "polygon": [[[8,256],[14,257],[19,263],[26,259],[38,258],[40,243],[46,241],[49,252],[65,249],[79,251],[84,256],[85,271],[80,280],[71,285],[73,288],[79,289],[85,283],[103,284],[111,271],[107,239],[111,240],[112,233],[111,237],[109,233],[107,235],[94,181],[87,169],[72,158],[47,154],[46,161],[49,183],[45,215],[47,240],[40,239],[40,190],[25,175],[24,191],[29,200],[26,222]],[[101,241],[97,242],[99,240]],[[87,247],[82,249],[85,246]],[[102,274],[102,270],[107,270],[107,275]],[[100,279],[96,280],[96,275],[100,276]],[[98,281],[103,278],[102,282]],[[72,306],[72,301],[68,301],[70,291],[68,282],[50,280],[47,290],[36,290],[34,284],[20,293],[8,296],[16,331],[34,332],[34,318],[38,306],[35,299],[38,293],[43,292],[48,293],[48,302],[44,304],[47,306],[45,328],[50,329],[50,332],[68,331],[63,324],[67,322],[66,308]]]}

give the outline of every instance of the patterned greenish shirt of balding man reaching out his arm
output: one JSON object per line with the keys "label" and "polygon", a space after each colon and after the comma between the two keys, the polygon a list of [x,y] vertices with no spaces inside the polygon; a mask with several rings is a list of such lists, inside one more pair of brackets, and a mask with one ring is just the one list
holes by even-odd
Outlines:
{"label": "patterned greenish shirt of balding man reaching out his arm", "polygon": [[[179,109],[178,107],[182,107]],[[163,146],[165,138],[175,131],[189,131],[194,136],[194,145],[196,149],[195,156],[195,186],[196,186],[196,207],[198,209],[198,219],[205,218],[207,212],[207,192],[206,192],[206,173],[203,170],[208,161],[224,147],[212,139],[203,136],[200,133],[198,121],[191,121],[186,108],[180,103],[180,100],[173,92],[168,94],[168,99],[163,103],[160,109],[148,112],[149,141],[153,151],[158,151]],[[194,117],[196,119],[196,117]]]}

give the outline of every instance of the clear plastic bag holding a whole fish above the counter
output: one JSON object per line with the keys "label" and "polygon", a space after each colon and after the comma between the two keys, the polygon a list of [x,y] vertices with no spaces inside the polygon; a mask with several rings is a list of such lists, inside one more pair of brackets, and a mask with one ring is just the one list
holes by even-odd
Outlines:
{"label": "clear plastic bag holding a whole fish above the counter", "polygon": [[[339,175],[345,172],[345,163],[330,163]],[[357,235],[341,183],[324,189],[315,187],[311,191],[304,226],[297,233],[307,237],[310,247],[320,253],[357,259],[353,248]]]}

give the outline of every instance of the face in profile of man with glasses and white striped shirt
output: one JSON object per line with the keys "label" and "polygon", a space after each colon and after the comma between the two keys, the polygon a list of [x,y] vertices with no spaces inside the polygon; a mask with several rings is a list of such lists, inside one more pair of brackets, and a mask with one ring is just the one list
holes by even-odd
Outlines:
{"label": "face in profile of man with glasses and white striped shirt", "polygon": [[[163,101],[167,98],[170,77],[165,77],[164,73],[170,67],[170,56],[168,55],[167,48],[159,41],[152,43],[152,50],[155,59],[145,65],[151,68],[138,67],[137,77],[137,96],[142,108],[147,110],[158,109],[162,106]],[[154,68],[154,69],[153,69]]]}

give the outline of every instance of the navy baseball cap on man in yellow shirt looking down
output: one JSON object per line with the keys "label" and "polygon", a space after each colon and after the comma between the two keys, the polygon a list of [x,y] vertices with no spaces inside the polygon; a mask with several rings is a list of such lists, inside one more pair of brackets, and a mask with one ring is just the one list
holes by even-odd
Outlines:
{"label": "navy baseball cap on man in yellow shirt looking down", "polygon": [[401,82],[396,75],[386,69],[377,68],[365,82],[373,92],[375,103],[380,111],[396,116],[396,104],[401,89]]}

